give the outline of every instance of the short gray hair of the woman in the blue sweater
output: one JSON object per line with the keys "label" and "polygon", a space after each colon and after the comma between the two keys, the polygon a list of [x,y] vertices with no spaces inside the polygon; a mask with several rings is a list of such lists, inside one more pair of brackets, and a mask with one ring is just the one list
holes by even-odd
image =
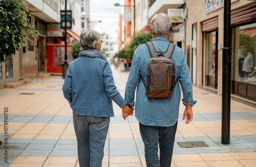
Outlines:
{"label": "short gray hair of the woman in the blue sweater", "polygon": [[81,50],[96,49],[96,42],[101,40],[99,32],[95,30],[88,30],[81,32],[80,36]]}

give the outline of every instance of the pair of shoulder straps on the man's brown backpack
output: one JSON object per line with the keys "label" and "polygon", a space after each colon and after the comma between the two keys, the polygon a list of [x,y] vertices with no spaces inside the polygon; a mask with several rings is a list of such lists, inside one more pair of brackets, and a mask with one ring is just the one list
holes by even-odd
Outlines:
{"label": "pair of shoulder straps on the man's brown backpack", "polygon": [[150,51],[151,58],[157,58],[159,55],[163,55],[163,57],[170,58],[170,57],[172,57],[174,47],[175,47],[175,44],[169,43],[168,49],[166,50],[166,52],[161,53],[161,52],[156,51],[156,49],[151,41],[146,42],[146,45],[148,47],[148,50]]}

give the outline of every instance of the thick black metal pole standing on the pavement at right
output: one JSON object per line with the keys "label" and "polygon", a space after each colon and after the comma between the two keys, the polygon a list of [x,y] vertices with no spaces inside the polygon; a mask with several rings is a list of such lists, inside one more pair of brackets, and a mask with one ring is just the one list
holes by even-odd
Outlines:
{"label": "thick black metal pole standing on the pavement at right", "polygon": [[231,26],[230,0],[224,1],[224,47],[222,48],[222,125],[221,144],[230,144],[230,90],[231,90]]}

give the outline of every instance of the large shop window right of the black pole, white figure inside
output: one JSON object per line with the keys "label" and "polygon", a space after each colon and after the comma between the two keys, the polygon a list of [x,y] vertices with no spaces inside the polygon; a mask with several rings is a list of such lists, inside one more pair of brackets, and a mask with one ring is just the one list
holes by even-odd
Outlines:
{"label": "large shop window right of the black pole, white figure inside", "polygon": [[232,93],[256,101],[256,23],[232,29]]}

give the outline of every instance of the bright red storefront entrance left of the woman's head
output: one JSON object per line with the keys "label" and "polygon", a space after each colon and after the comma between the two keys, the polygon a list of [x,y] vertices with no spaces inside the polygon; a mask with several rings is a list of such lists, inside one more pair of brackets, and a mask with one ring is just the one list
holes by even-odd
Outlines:
{"label": "bright red storefront entrance left of the woman's head", "polygon": [[[47,45],[48,50],[48,68],[47,71],[52,74],[62,74],[62,65],[65,61],[65,45],[51,44]],[[72,45],[67,45],[68,61],[73,61]],[[69,64],[69,63],[68,63]]]}

